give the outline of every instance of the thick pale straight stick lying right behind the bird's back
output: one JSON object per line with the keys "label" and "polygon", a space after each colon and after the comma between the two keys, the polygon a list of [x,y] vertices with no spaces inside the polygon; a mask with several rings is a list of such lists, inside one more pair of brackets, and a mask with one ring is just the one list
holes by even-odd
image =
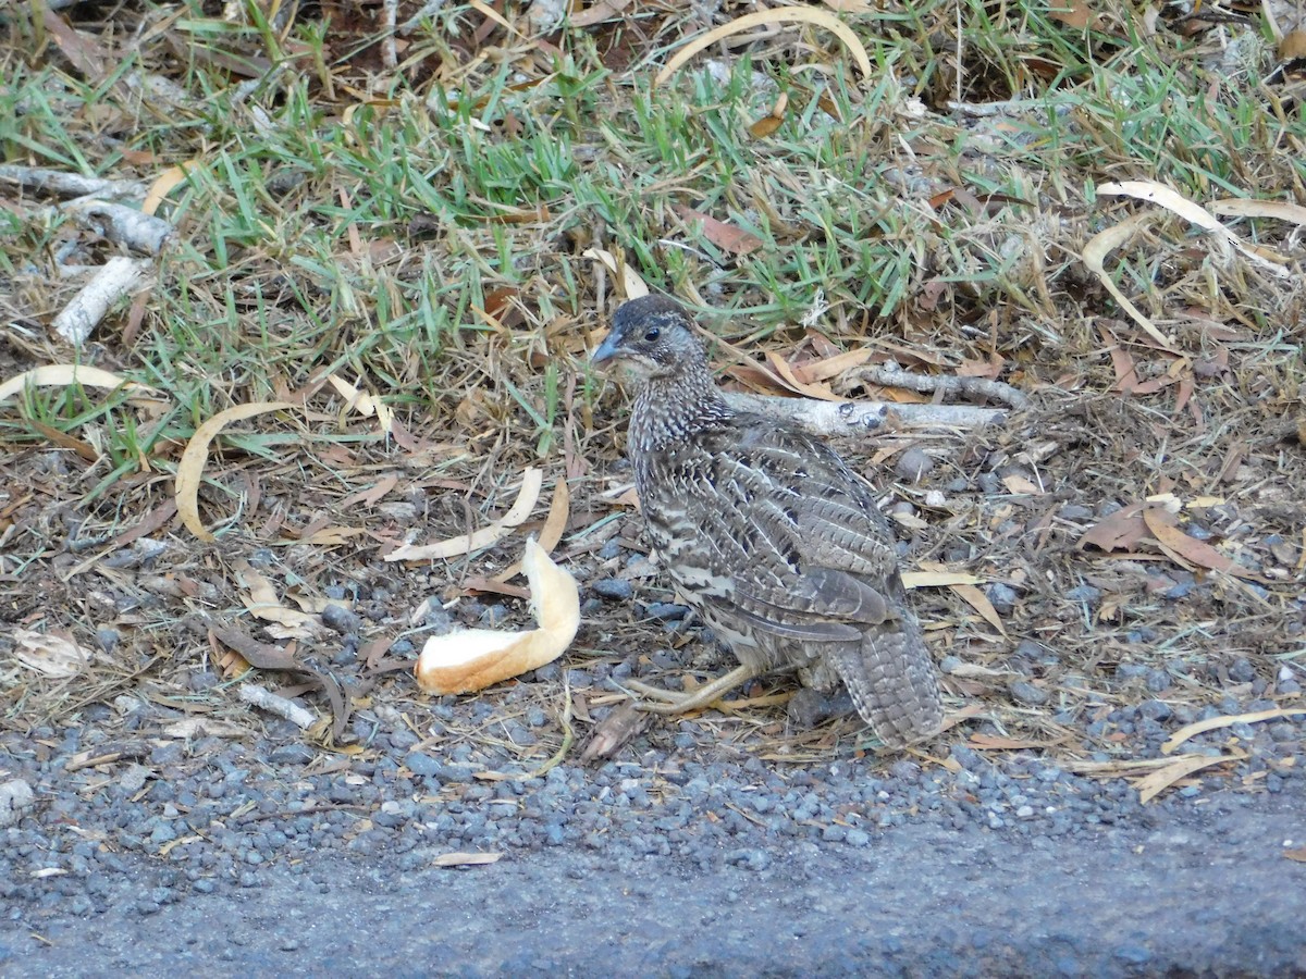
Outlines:
{"label": "thick pale straight stick lying right behind the bird's back", "polygon": [[797,424],[819,436],[855,437],[895,423],[910,428],[982,428],[1004,424],[1007,412],[1000,409],[969,405],[893,405],[883,401],[814,401],[781,398],[764,394],[725,392],[726,402],[738,411],[755,411]]}

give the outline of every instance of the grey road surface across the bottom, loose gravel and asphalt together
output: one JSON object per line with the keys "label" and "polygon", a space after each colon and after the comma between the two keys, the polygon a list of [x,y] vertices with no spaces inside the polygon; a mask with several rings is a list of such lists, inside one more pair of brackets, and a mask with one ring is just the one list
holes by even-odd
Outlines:
{"label": "grey road surface across the bottom, loose gravel and asphalt together", "polygon": [[[620,551],[607,550],[611,572]],[[636,595],[616,577],[589,593],[588,616],[660,621],[687,642],[582,636],[582,649],[619,651],[577,651],[419,710],[377,687],[355,701],[353,753],[244,709],[199,666],[185,685],[225,705],[213,715],[123,693],[63,723],[0,731],[0,971],[78,975],[91,944],[108,949],[106,971],[195,962],[232,974],[295,971],[312,959],[287,953],[337,944],[346,972],[1306,969],[1299,927],[1286,924],[1306,915],[1294,856],[1306,847],[1306,717],[1188,738],[1178,753],[1217,764],[1147,804],[1121,777],[1155,773],[1194,721],[1290,706],[1294,674],[1247,655],[1115,662],[1094,679],[1105,696],[1083,707],[1062,700],[1057,650],[1027,640],[978,672],[952,653],[940,667],[963,691],[994,677],[995,702],[1004,689],[1016,710],[1047,718],[1046,749],[980,715],[921,754],[876,756],[853,721],[789,739],[785,709],[760,706],[656,718],[614,760],[585,766],[577,747],[554,756],[564,683],[582,697],[565,721],[582,738],[626,679],[724,668],[670,593]],[[1019,604],[1010,586],[987,594]],[[1101,595],[1085,583],[1064,598]],[[359,676],[367,602],[381,600],[324,615],[346,683]],[[498,627],[512,610],[454,612]],[[424,614],[428,630],[452,621],[438,603]],[[1156,642],[1141,625],[1127,640]],[[389,655],[418,645],[400,640]],[[1190,677],[1222,700],[1173,697]],[[850,706],[808,713],[815,723]],[[964,743],[977,734],[995,751]],[[441,869],[456,854],[496,863]]]}

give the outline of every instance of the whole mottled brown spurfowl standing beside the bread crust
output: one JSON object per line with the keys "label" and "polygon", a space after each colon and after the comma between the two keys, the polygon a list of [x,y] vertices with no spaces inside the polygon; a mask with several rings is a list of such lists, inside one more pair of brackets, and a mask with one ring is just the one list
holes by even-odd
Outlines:
{"label": "whole mottled brown spurfowl standing beside the bread crust", "polygon": [[824,443],[734,411],[673,300],[624,303],[593,363],[620,362],[637,382],[627,450],[649,538],[667,573],[738,657],[692,694],[705,706],[748,677],[797,670],[857,713],[889,747],[939,731],[943,704],[921,627],[906,603],[892,533],[870,488]]}

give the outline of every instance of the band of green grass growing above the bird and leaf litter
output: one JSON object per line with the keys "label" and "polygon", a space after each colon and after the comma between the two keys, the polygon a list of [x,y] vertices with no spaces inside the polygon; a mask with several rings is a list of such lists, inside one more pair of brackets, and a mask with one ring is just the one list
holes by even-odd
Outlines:
{"label": "band of green grass growing above the bird and leaf litter", "polygon": [[[1094,201],[1097,184],[1148,179],[1199,201],[1294,200],[1306,176],[1290,151],[1306,141],[1306,123],[1258,86],[1268,47],[1254,33],[1238,42],[1246,72],[1225,77],[1207,60],[1209,43],[1164,20],[1143,37],[1134,22],[1084,31],[1045,8],[963,0],[959,10],[936,0],[846,18],[876,68],[865,81],[832,38],[802,30],[801,50],[768,42],[738,52],[725,78],[705,67],[720,55],[704,52],[654,90],[641,61],[660,63],[682,34],[701,30],[691,14],[662,25],[641,16],[639,30],[653,39],[627,29],[620,43],[637,46],[635,65],[611,69],[611,38],[592,34],[563,35],[560,55],[530,63],[473,63],[456,46],[482,18],[451,5],[405,57],[417,65],[444,55],[457,65],[452,81],[415,68],[390,73],[368,102],[347,86],[358,93],[375,77],[350,65],[370,38],[319,21],[282,33],[256,4],[246,10],[251,21],[232,25],[192,0],[166,29],[178,43],[153,34],[99,82],[50,47],[26,59],[21,44],[43,30],[24,9],[0,14],[10,40],[0,86],[7,161],[146,180],[192,164],[161,211],[178,243],[159,264],[135,343],[115,351],[129,376],[176,401],[166,424],[142,437],[120,405],[95,409],[80,394],[0,411],[0,441],[10,445],[40,441],[29,418],[68,432],[103,424],[108,471],[90,496],[222,407],[329,371],[363,376],[414,424],[436,429],[456,426],[468,385],[485,386],[530,454],[558,453],[568,379],[581,379],[586,406],[601,392],[575,356],[579,332],[603,312],[581,257],[589,244],[619,251],[656,288],[701,296],[722,311],[724,333],[755,343],[791,343],[798,321],[824,302],[818,328],[837,342],[861,342],[848,334],[868,322],[872,335],[982,358],[989,341],[957,330],[983,322],[1000,350],[1027,350],[1058,369],[1097,364],[1096,342],[1070,349],[1071,334],[1053,321],[1115,315],[1075,260],[1118,221],[1115,202]],[[495,38],[507,43],[502,31]],[[518,54],[529,48],[515,40]],[[259,85],[214,60],[279,64],[295,51],[298,60]],[[115,86],[135,70],[170,78],[189,102],[129,112]],[[781,94],[780,128],[754,138],[750,125]],[[959,94],[1010,106],[953,112],[947,101]],[[155,163],[128,164],[137,153]],[[955,188],[981,209],[961,198],[930,205]],[[730,255],[678,206],[764,245]],[[31,283],[9,300],[12,312],[40,319],[67,300],[48,285],[61,222],[39,208],[0,221],[0,275]],[[1211,274],[1183,251],[1191,231],[1165,228],[1160,252],[1136,244],[1117,256],[1124,291],[1144,308]],[[1276,247],[1286,228],[1256,222],[1245,232]],[[926,308],[930,283],[943,299]],[[507,335],[478,313],[503,288],[525,311]],[[1238,275],[1220,279],[1225,300],[1263,308],[1239,288]],[[119,319],[99,329],[108,347]],[[569,325],[550,333],[552,324]],[[532,350],[550,354],[547,367],[530,364]]]}

